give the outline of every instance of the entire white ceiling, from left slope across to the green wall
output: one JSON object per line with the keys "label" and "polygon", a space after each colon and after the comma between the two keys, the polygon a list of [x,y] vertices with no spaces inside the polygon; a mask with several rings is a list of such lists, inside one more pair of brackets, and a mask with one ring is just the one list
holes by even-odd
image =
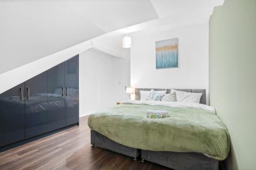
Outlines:
{"label": "entire white ceiling, from left slope across to the green wall", "polygon": [[[224,0],[3,0],[0,74],[99,35],[207,20]],[[108,33],[108,34],[106,34]],[[9,63],[9,64],[5,64]]]}

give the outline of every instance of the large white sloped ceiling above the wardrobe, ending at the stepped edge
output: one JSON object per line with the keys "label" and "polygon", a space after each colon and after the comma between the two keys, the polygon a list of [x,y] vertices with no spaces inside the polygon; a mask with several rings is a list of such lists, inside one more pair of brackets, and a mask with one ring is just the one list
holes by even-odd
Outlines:
{"label": "large white sloped ceiling above the wardrobe, ending at the stepped edge", "polygon": [[0,1],[0,74],[156,18],[148,0]]}

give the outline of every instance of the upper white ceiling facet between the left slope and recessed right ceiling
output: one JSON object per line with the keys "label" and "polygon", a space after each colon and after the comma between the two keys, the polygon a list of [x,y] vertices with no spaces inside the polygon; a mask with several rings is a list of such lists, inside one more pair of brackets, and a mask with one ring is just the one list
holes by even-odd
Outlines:
{"label": "upper white ceiling facet between the left slope and recessed right ceiling", "polygon": [[63,4],[104,32],[158,18],[148,0],[76,0],[63,1]]}

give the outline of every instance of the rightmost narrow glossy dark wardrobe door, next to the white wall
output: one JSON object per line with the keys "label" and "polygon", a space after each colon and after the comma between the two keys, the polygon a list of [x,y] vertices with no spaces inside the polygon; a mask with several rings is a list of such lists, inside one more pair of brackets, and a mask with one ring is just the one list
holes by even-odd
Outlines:
{"label": "rightmost narrow glossy dark wardrobe door, next to the white wall", "polygon": [[66,126],[79,123],[79,55],[65,62]]}

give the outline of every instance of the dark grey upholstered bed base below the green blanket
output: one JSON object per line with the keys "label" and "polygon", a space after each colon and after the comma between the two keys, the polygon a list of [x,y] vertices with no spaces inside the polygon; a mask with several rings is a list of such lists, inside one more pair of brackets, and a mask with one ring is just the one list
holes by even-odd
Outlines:
{"label": "dark grey upholstered bed base below the green blanket", "polygon": [[219,161],[200,153],[140,150],[119,144],[91,130],[91,147],[94,146],[133,157],[135,160],[137,160],[141,154],[141,162],[146,160],[173,169],[219,169]]}

